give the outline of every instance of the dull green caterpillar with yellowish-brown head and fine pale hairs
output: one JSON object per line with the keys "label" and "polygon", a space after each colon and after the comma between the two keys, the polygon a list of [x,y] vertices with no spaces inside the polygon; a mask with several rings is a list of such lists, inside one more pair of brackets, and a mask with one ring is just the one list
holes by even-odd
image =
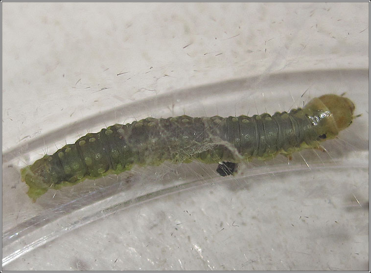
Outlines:
{"label": "dull green caterpillar with yellowish-brown head and fine pale hairs", "polygon": [[[21,170],[36,201],[50,188],[60,189],[86,179],[128,171],[134,164],[159,165],[199,160],[218,163],[218,173],[230,175],[236,164],[251,158],[272,159],[306,148],[318,148],[353,119],[355,106],[343,96],[326,94],[302,109],[273,115],[152,118],[115,124],[80,137],[53,155],[45,155]],[[223,163],[221,163],[223,161]]]}

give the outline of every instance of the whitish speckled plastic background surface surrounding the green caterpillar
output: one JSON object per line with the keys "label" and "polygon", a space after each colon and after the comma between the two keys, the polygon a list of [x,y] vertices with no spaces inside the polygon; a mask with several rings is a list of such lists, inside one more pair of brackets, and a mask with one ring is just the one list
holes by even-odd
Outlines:
{"label": "whitish speckled plastic background surface surrounding the green caterpillar", "polygon": [[[369,3],[2,9],[3,270],[369,268]],[[44,152],[115,122],[273,114],[343,92],[363,115],[328,154],[290,165],[221,179],[165,163],[36,203],[20,181]]]}

